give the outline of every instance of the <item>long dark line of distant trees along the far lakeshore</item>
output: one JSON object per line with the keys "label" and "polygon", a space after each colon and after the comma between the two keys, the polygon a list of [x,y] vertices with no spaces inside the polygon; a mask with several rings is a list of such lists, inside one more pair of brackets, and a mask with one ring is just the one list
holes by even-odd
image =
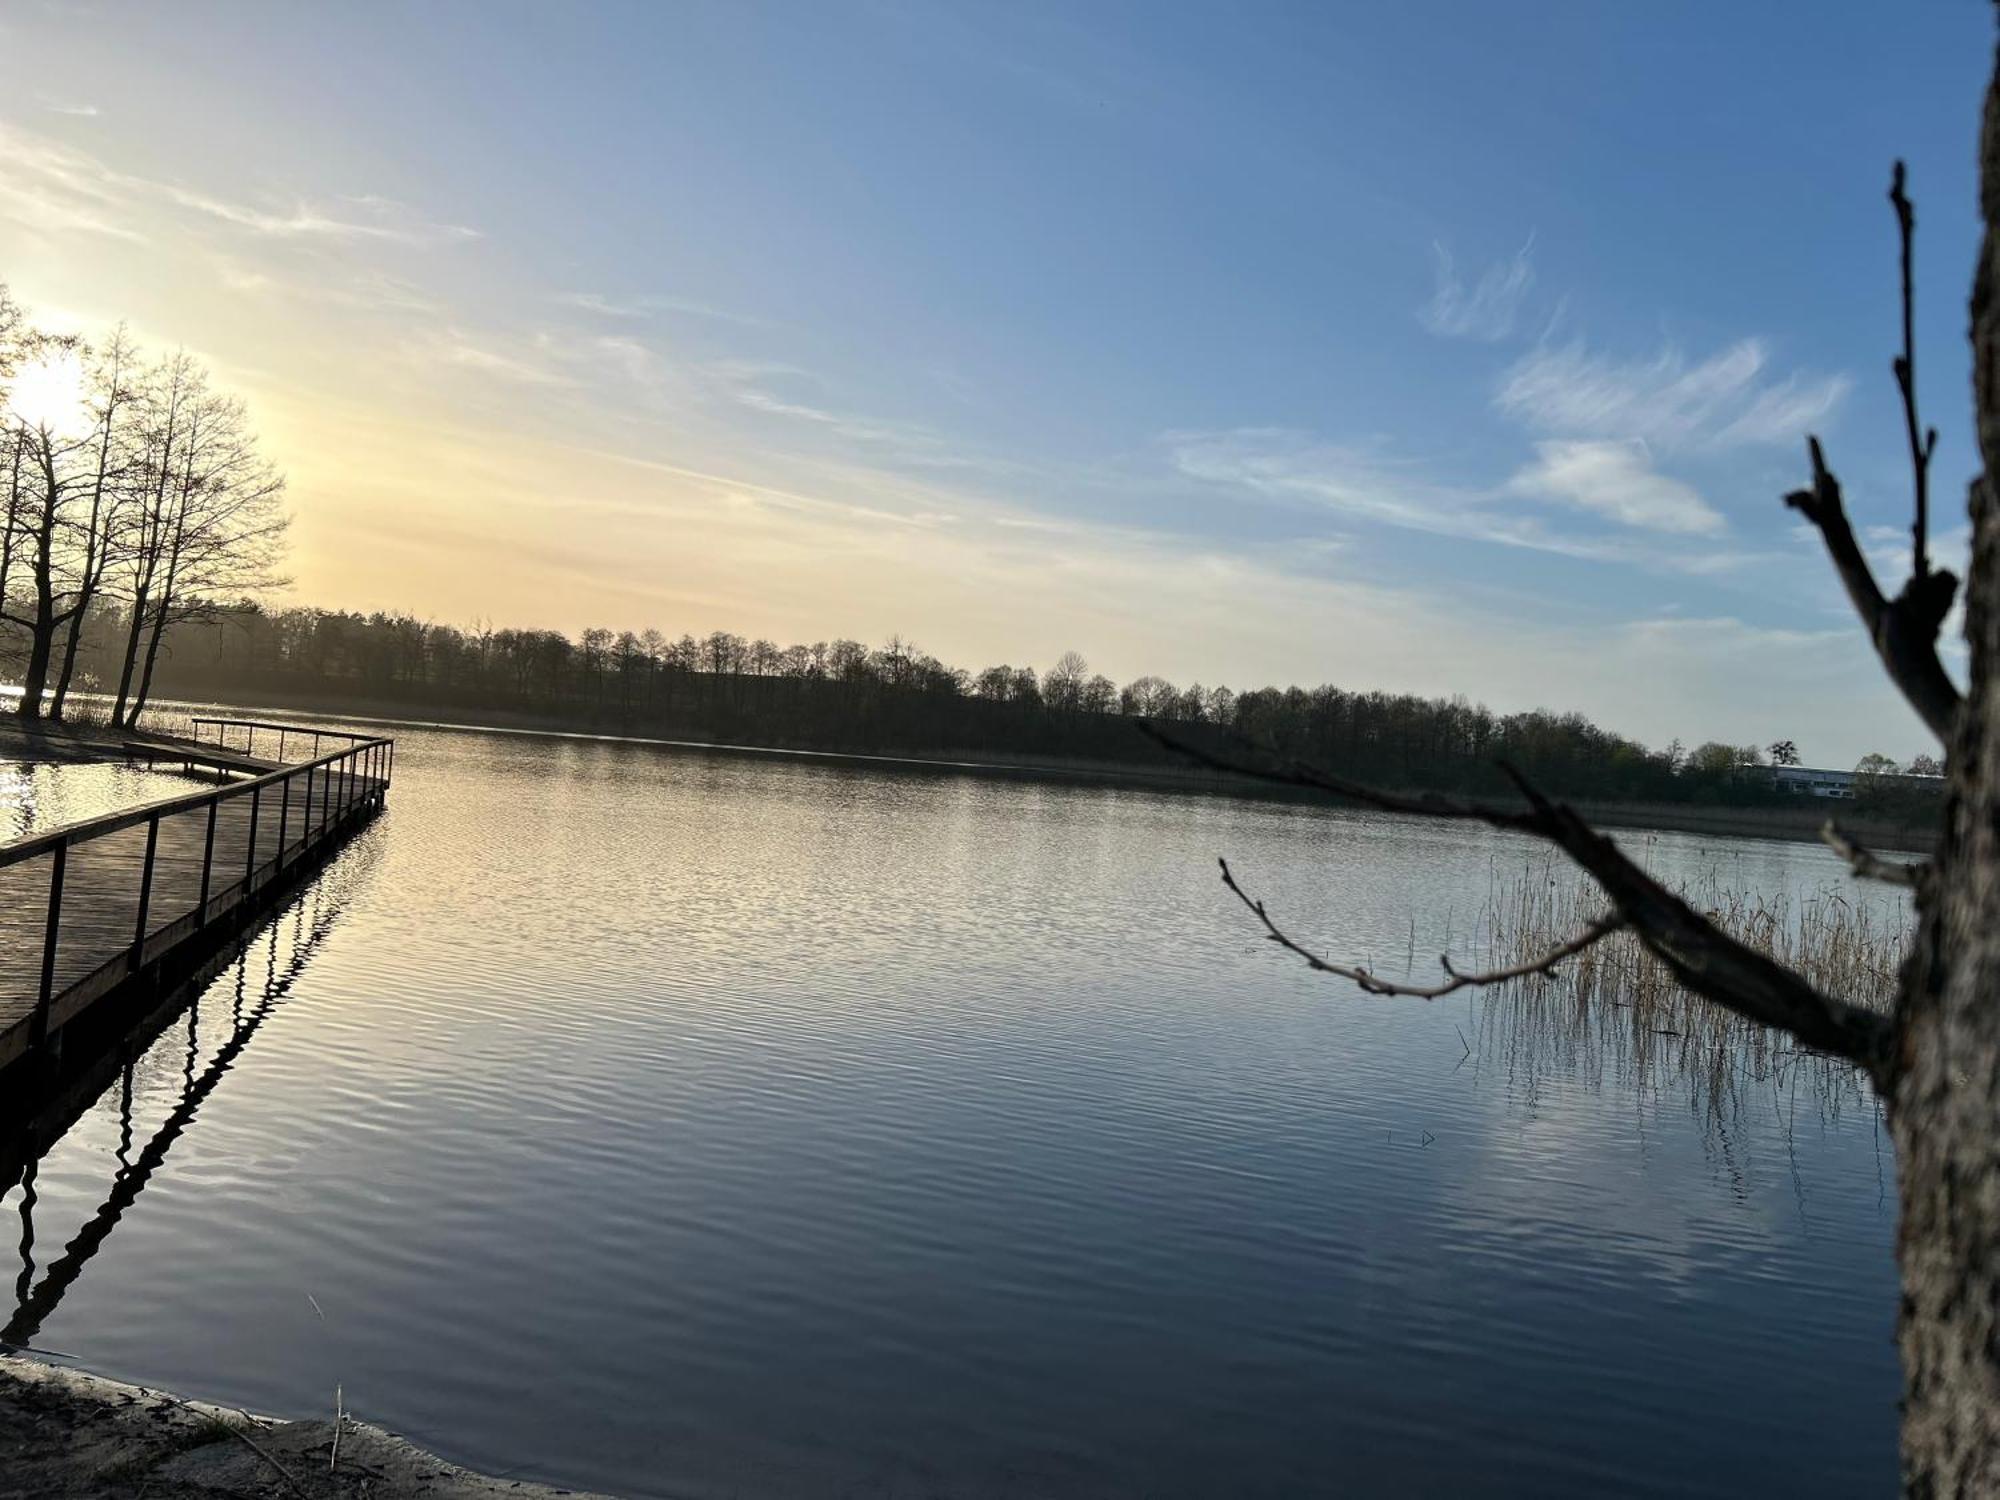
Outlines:
{"label": "long dark line of distant trees along the far lakeshore", "polygon": [[[128,634],[120,606],[86,632],[86,666],[110,672]],[[106,680],[110,680],[106,676]],[[1766,802],[1762,752],[1680,742],[1648,750],[1582,714],[1502,714],[1464,698],[1320,688],[1116,684],[1076,652],[1046,670],[948,666],[908,640],[778,646],[726,630],[456,628],[408,614],[210,606],[166,632],[158,690],[300,706],[380,704],[426,718],[634,732],[718,744],[962,758],[1180,766],[1132,718],[1242,734],[1354,776],[1438,790],[1498,790],[1496,760],[1576,798]]]}

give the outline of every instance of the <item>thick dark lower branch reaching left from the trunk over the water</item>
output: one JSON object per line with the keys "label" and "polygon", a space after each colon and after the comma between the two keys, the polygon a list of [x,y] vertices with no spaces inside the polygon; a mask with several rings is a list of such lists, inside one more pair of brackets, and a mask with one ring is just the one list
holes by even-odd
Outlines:
{"label": "thick dark lower branch reaching left from the trunk over the water", "polygon": [[[1336,792],[1384,812],[1416,812],[1484,822],[1492,828],[1510,828],[1546,838],[1598,882],[1618,916],[1666,964],[1678,984],[1734,1010],[1746,1020],[1788,1032],[1816,1052],[1846,1058],[1866,1068],[1878,1082],[1886,1084],[1890,1080],[1894,1068],[1894,1022],[1864,1006],[1822,994],[1768,954],[1716,928],[1714,922],[1628,860],[1614,840],[1584,822],[1572,808],[1544,798],[1512,766],[1502,764],[1502,770],[1520,788],[1528,802],[1526,810],[1464,802],[1438,794],[1402,796],[1382,792],[1364,782],[1352,782],[1298,760],[1272,758],[1270,764],[1260,764],[1248,756],[1220,756],[1188,744],[1148,720],[1140,720],[1140,730],[1156,744],[1214,770],[1254,776],[1278,786]],[[1270,752],[1260,752],[1258,746],[1242,740],[1242,736],[1232,738],[1250,746],[1252,752],[1270,756]],[[1312,954],[1304,954],[1304,950],[1298,952],[1314,958]],[[1332,966],[1326,964],[1326,968]]]}

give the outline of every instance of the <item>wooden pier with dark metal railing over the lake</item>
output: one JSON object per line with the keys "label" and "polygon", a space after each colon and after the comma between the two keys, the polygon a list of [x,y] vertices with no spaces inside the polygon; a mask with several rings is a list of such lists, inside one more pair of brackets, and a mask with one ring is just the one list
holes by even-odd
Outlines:
{"label": "wooden pier with dark metal railing over the lake", "polygon": [[[254,922],[388,798],[394,740],[194,720],[204,730],[216,744],[194,760],[246,780],[0,844],[0,1068],[60,1042],[114,990]],[[258,760],[258,730],[280,760],[294,748],[310,758]]]}

